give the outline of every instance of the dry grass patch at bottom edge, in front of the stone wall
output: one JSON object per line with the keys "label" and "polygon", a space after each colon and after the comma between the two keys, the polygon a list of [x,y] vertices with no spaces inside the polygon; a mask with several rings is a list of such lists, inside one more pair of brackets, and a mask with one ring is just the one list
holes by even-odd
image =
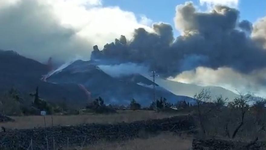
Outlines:
{"label": "dry grass patch at bottom edge, in front of the stone wall", "polygon": [[119,143],[99,142],[95,145],[86,146],[84,150],[190,150],[192,139],[191,136],[177,136],[173,133],[164,132],[147,139],[137,138]]}

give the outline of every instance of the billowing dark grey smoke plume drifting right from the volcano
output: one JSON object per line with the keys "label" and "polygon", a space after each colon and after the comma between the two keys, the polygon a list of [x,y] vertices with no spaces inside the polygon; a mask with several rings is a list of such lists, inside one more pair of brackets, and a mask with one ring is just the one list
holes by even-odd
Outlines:
{"label": "billowing dark grey smoke plume drifting right from the volcano", "polygon": [[175,25],[182,35],[175,41],[169,24],[156,23],[154,33],[138,28],[130,41],[121,36],[101,51],[95,46],[91,59],[146,64],[165,77],[199,66],[229,67],[242,73],[264,68],[266,52],[247,34],[251,23],[238,22],[238,16],[238,10],[227,6],[196,12],[187,2],[176,8]]}

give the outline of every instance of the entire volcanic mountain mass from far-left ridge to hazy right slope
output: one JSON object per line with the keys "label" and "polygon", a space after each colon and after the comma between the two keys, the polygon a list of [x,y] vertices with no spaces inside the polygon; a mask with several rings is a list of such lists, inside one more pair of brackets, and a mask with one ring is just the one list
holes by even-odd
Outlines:
{"label": "entire volcanic mountain mass from far-left ridge to hazy right slope", "polygon": [[[15,87],[31,103],[30,93],[38,86],[40,97],[51,103],[66,102],[74,107],[84,107],[99,96],[106,104],[128,105],[134,98],[143,106],[151,104],[154,96],[153,82],[144,75],[112,76],[98,67],[95,61],[69,62],[52,72],[49,66],[25,58],[13,51],[0,51],[0,93]],[[156,98],[166,98],[171,103],[193,102],[193,94],[201,88],[210,88],[212,97],[223,94],[236,97],[220,87],[201,87],[157,78]]]}

